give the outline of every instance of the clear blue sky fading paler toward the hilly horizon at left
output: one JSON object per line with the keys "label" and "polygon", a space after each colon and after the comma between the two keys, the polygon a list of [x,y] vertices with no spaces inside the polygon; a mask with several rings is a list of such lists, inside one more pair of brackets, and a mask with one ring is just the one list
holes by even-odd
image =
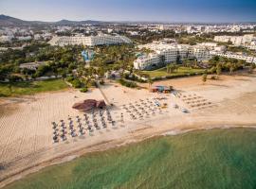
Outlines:
{"label": "clear blue sky fading paler toward the hilly horizon at left", "polygon": [[0,14],[27,21],[256,21],[256,0],[0,0]]}

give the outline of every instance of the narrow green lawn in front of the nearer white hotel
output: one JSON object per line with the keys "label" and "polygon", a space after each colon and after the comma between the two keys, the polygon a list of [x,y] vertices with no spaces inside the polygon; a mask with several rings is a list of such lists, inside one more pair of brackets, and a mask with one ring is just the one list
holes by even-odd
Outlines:
{"label": "narrow green lawn in front of the nearer white hotel", "polygon": [[154,71],[141,71],[141,74],[149,75],[150,77],[177,77],[177,76],[186,76],[188,74],[195,74],[195,73],[203,73],[204,69],[194,69],[189,67],[179,67],[174,73],[167,73],[166,67],[160,68]]}

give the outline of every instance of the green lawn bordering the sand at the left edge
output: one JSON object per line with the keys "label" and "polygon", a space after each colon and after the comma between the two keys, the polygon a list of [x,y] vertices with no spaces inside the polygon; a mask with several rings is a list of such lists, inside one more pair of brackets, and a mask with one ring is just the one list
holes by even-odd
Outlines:
{"label": "green lawn bordering the sand at the left edge", "polygon": [[65,84],[63,79],[0,83],[0,96],[36,94],[40,92],[62,90],[66,87],[67,85]]}

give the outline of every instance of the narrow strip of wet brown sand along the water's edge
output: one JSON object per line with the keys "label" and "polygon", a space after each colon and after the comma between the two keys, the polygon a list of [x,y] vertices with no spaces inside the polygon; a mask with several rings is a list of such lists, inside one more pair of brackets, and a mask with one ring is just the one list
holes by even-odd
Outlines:
{"label": "narrow strip of wet brown sand along the water's edge", "polygon": [[[16,181],[16,180],[21,180],[25,177],[27,177],[30,174],[34,174],[38,171],[41,171],[42,169],[51,166],[51,165],[55,165],[55,164],[61,164],[61,163],[68,163],[70,161],[73,161],[77,158],[82,158],[83,156],[86,156],[88,154],[93,154],[93,153],[97,153],[97,152],[103,152],[112,148],[119,148],[122,146],[130,146],[132,144],[137,144],[140,143],[142,141],[148,140],[148,139],[153,139],[155,137],[164,137],[164,136],[177,136],[177,135],[182,135],[182,134],[187,134],[187,133],[191,133],[191,132],[195,132],[195,131],[210,131],[213,129],[255,129],[256,131],[256,124],[248,124],[248,125],[239,125],[239,124],[224,124],[224,125],[216,125],[216,126],[208,126],[208,127],[201,127],[201,128],[196,128],[194,127],[193,129],[166,129],[166,130],[162,130],[160,132],[157,132],[155,134],[148,134],[148,135],[144,135],[144,136],[140,136],[137,139],[133,139],[133,140],[126,140],[126,139],[120,139],[119,141],[104,141],[101,144],[96,144],[95,146],[90,146],[90,147],[86,147],[86,149],[84,149],[83,147],[81,149],[75,150],[75,151],[70,151],[66,154],[63,154],[59,157],[56,158],[52,158],[47,160],[46,162],[42,162],[42,163],[37,163],[34,165],[31,165],[30,167],[27,167],[23,170],[20,170],[17,173],[14,173],[12,175],[7,176],[6,178],[3,178],[2,180],[0,180],[0,188],[3,188],[7,185],[9,185],[10,183]],[[111,144],[111,146],[105,146],[104,148],[101,147],[102,145],[107,145],[109,143],[114,143]],[[96,148],[96,149],[94,149]]]}

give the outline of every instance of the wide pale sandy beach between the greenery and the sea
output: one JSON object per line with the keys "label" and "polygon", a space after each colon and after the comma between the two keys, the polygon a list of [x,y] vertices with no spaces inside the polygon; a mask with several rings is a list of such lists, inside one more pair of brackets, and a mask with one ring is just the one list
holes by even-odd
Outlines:
{"label": "wide pale sandy beach between the greenery and the sea", "polygon": [[[101,87],[110,103],[116,121],[107,129],[68,137],[53,144],[51,122],[83,116],[72,105],[84,99],[103,99],[94,89],[82,94],[76,90],[35,94],[0,99],[0,187],[52,163],[71,160],[84,153],[134,143],[160,134],[176,134],[184,130],[230,127],[256,128],[256,75],[221,76],[202,83],[201,77],[157,81],[154,85],[174,86],[174,94],[153,94],[146,89],[129,89],[117,83]],[[148,84],[141,84],[148,87]],[[155,107],[157,101],[166,108]],[[163,99],[160,99],[163,98]],[[142,102],[145,102],[144,105]],[[131,103],[131,104],[130,104]],[[151,104],[152,103],[152,104]],[[123,105],[155,108],[155,113],[131,118]],[[174,108],[177,105],[178,108]],[[189,113],[181,110],[186,109]],[[150,112],[150,111],[149,111]],[[121,113],[123,121],[121,121]],[[135,114],[135,112],[132,112]]]}

